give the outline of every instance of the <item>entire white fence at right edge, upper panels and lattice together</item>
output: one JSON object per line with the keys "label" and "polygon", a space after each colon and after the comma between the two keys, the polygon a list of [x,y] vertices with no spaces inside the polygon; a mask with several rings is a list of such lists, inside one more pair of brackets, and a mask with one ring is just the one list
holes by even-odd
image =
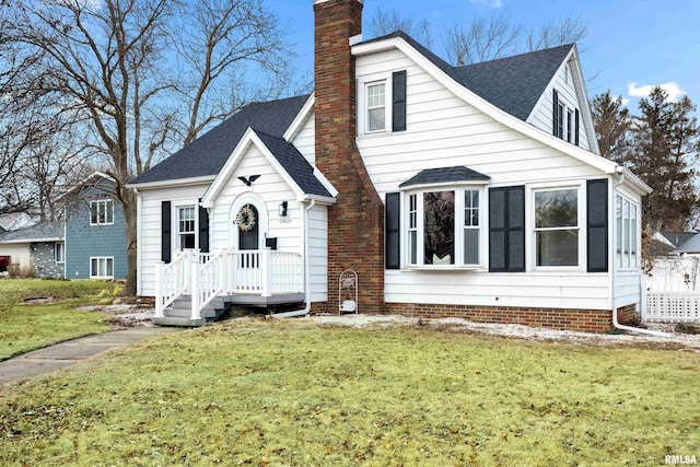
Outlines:
{"label": "entire white fence at right edge, upper panels and lattice together", "polygon": [[700,258],[658,257],[646,278],[645,322],[700,322]]}

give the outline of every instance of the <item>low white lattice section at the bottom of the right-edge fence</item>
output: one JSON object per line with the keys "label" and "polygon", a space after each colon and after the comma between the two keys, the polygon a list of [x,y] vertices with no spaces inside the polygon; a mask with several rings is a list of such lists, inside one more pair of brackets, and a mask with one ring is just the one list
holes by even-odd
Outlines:
{"label": "low white lattice section at the bottom of the right-edge fence", "polygon": [[646,292],[645,322],[700,322],[700,293]]}

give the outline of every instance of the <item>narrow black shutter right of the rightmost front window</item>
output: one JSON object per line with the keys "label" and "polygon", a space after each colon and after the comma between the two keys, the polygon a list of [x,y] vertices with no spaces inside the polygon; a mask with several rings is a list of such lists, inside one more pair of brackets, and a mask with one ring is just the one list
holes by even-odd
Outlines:
{"label": "narrow black shutter right of the rightmost front window", "polygon": [[586,183],[586,258],[588,272],[608,271],[608,180]]}

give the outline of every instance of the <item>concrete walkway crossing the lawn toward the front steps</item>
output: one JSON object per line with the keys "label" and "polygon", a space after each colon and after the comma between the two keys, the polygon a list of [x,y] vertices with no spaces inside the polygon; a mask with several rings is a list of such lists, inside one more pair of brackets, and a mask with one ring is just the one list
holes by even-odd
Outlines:
{"label": "concrete walkway crossing the lawn toward the front steps", "polygon": [[178,328],[136,328],[81,337],[0,362],[0,384],[18,383],[72,366],[90,357],[140,340],[177,332]]}

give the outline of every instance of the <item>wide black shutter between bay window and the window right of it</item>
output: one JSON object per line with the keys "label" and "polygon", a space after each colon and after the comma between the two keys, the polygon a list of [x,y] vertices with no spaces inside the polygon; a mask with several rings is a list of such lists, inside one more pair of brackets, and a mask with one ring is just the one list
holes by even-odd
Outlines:
{"label": "wide black shutter between bay window and the window right of it", "polygon": [[489,190],[489,270],[525,271],[525,187]]}

